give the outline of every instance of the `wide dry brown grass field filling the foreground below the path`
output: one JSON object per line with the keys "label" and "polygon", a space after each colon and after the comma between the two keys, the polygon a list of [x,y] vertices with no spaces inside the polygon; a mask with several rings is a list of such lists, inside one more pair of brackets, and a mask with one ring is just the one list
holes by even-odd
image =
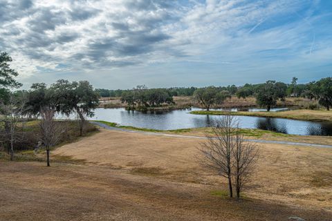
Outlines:
{"label": "wide dry brown grass field filling the foreground below the path", "polygon": [[66,163],[0,162],[0,220],[331,220],[332,149],[258,144],[238,202],[200,142],[101,130],[53,151]]}

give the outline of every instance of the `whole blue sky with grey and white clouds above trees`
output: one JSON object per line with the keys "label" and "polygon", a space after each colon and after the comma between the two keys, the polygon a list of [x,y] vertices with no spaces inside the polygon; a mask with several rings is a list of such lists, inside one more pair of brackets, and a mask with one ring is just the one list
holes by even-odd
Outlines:
{"label": "whole blue sky with grey and white clouds above trees", "polygon": [[305,83],[332,76],[332,1],[0,0],[0,51],[23,88]]}

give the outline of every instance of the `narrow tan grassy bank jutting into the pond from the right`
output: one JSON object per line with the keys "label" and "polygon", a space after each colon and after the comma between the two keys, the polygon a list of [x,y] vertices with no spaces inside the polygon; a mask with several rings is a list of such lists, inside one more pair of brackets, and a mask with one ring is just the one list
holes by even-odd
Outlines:
{"label": "narrow tan grassy bank jutting into the pond from the right", "polygon": [[286,119],[301,119],[315,122],[332,122],[332,111],[312,111],[312,110],[294,110],[294,111],[277,111],[277,112],[225,112],[225,111],[192,111],[194,115],[239,115],[253,117],[278,117]]}

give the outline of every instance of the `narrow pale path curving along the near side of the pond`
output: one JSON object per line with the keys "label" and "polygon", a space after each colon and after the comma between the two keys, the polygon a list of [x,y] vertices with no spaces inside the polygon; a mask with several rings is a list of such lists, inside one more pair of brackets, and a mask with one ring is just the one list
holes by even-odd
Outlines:
{"label": "narrow pale path curving along the near side of the pond", "polygon": [[[176,135],[176,134],[169,134],[169,133],[154,133],[154,132],[147,132],[147,131],[133,131],[126,128],[118,128],[114,126],[108,126],[107,124],[103,124],[101,122],[91,122],[92,124],[98,125],[102,128],[107,130],[113,131],[123,131],[129,133],[142,133],[146,135],[159,135],[159,136],[166,136],[166,137],[183,137],[183,138],[194,138],[194,139],[206,139],[205,137],[200,136],[193,136],[193,135]],[[321,147],[321,148],[332,148],[332,145],[324,145],[324,144],[308,144],[302,142],[288,142],[288,141],[275,141],[275,140],[257,140],[257,139],[247,139],[247,141],[256,142],[256,143],[264,143],[264,144],[285,144],[285,145],[293,145],[293,146],[312,146],[312,147]]]}

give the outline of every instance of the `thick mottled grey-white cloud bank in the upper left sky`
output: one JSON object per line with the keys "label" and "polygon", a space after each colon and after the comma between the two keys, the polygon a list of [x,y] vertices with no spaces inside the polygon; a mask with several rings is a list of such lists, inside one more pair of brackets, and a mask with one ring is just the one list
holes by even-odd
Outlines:
{"label": "thick mottled grey-white cloud bank in the upper left sky", "polygon": [[[68,8],[64,9],[51,3],[38,6],[29,0],[16,4],[0,0],[0,28],[5,23],[8,27],[8,30],[1,32],[1,35],[7,36],[4,48],[19,50],[30,59],[63,63],[57,50],[64,44],[77,41],[77,45],[68,48],[67,52],[67,59],[76,68],[140,64],[156,48],[168,50],[167,53],[172,56],[181,54],[176,49],[160,47],[163,41],[172,39],[172,35],[166,33],[162,26],[178,19],[173,12],[174,3],[119,1],[116,4],[120,4],[124,10],[115,11],[103,8],[103,4],[109,1],[68,0],[66,3]],[[23,25],[11,23],[21,17],[25,18]],[[85,21],[97,17],[93,20],[95,24]],[[71,29],[74,24],[80,28]],[[110,31],[113,33],[111,37],[108,34]]]}

